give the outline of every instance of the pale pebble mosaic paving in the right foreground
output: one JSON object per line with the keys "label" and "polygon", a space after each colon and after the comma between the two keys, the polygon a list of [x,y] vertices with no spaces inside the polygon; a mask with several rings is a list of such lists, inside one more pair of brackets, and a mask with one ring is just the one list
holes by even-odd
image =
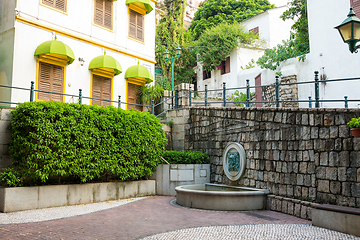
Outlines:
{"label": "pale pebble mosaic paving in the right foreground", "polygon": [[249,224],[186,228],[143,238],[143,240],[168,239],[360,239],[358,237],[314,227],[309,224]]}

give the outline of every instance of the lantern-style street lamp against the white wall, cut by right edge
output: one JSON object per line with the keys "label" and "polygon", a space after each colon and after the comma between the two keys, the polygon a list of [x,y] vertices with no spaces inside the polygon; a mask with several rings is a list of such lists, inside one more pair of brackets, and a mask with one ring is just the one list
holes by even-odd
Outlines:
{"label": "lantern-style street lamp against the white wall, cut by right edge", "polygon": [[357,53],[357,49],[360,48],[360,45],[356,46],[356,43],[360,41],[360,19],[355,16],[352,8],[350,8],[348,18],[335,28],[339,30],[343,41],[349,44],[350,52]]}

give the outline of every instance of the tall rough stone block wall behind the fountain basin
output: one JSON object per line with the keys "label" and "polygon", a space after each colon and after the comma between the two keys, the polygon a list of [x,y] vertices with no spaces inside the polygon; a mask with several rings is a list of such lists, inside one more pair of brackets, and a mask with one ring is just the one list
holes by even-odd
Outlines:
{"label": "tall rough stone block wall behind the fountain basin", "polygon": [[[268,189],[282,197],[276,200],[280,202],[285,198],[300,200],[304,206],[314,201],[360,207],[360,139],[354,139],[346,126],[351,118],[360,117],[359,109],[188,111],[184,146],[208,153],[211,182]],[[222,167],[229,142],[242,144],[247,155],[245,175],[235,183]]]}

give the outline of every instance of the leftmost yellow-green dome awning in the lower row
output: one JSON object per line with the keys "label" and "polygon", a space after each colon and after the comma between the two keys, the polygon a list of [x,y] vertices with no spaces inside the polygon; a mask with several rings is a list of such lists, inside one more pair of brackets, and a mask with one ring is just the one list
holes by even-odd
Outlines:
{"label": "leftmost yellow-green dome awning in the lower row", "polygon": [[66,56],[69,59],[67,64],[71,64],[75,60],[75,55],[71,50],[71,48],[65,43],[57,40],[50,40],[40,44],[36,48],[34,55],[38,56],[42,54],[51,54],[51,55],[55,54],[55,55]]}

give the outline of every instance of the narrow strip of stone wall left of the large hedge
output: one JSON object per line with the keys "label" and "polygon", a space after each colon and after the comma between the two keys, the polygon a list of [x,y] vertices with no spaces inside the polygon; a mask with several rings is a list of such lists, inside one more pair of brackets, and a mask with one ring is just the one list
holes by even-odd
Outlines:
{"label": "narrow strip of stone wall left of the large hedge", "polygon": [[9,154],[11,109],[0,108],[0,170],[8,167],[11,162]]}

